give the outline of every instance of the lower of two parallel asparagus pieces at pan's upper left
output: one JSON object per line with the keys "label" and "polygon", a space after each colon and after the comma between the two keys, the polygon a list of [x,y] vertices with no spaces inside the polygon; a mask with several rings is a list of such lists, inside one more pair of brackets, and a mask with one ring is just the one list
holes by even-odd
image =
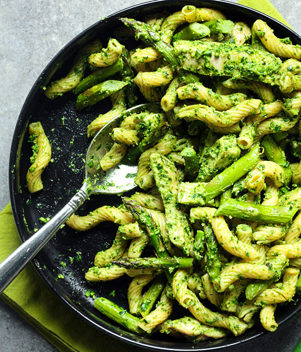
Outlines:
{"label": "lower of two parallel asparagus pieces at pan's upper left", "polygon": [[111,94],[120,91],[127,84],[127,82],[112,79],[96,84],[77,97],[76,109],[82,110],[83,108],[94,105]]}

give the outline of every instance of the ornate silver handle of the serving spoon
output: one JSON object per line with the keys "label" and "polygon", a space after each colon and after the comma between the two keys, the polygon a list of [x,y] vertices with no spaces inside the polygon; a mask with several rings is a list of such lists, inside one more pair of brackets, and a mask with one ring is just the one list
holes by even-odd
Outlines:
{"label": "ornate silver handle of the serving spoon", "polygon": [[53,218],[0,263],[0,294],[88,198],[86,183]]}

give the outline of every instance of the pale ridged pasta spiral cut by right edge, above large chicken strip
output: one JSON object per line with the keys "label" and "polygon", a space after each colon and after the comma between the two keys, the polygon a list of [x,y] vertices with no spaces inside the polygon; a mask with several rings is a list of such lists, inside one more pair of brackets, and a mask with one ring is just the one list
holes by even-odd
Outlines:
{"label": "pale ridged pasta spiral cut by right edge, above large chicken strip", "polygon": [[253,31],[260,38],[266,49],[274,55],[301,59],[301,46],[281,42],[264,21],[256,20],[253,24]]}

